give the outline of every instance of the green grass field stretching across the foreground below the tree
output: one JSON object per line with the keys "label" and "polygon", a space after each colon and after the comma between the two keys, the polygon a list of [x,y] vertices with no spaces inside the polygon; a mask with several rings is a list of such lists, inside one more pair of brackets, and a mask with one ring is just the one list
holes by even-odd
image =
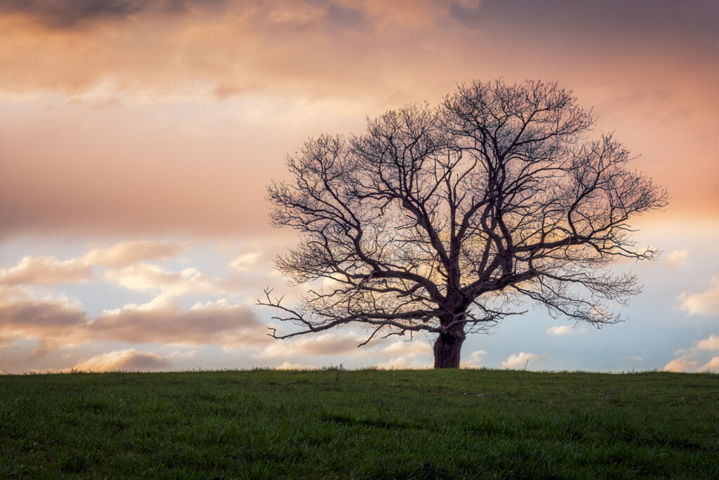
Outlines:
{"label": "green grass field stretching across the foreground below the tree", "polygon": [[1,376],[0,478],[61,476],[719,478],[719,376]]}

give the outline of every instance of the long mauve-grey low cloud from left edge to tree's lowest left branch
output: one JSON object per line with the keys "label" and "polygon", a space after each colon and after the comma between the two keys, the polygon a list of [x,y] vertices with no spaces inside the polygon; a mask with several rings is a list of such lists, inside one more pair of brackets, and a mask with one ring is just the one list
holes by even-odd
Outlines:
{"label": "long mauve-grey low cloud from left edge to tree's lowest left branch", "polygon": [[40,340],[35,355],[91,342],[216,344],[226,348],[270,342],[267,325],[245,305],[226,299],[181,309],[167,296],[143,305],[88,317],[65,298],[29,299],[0,296],[0,331],[4,342]]}

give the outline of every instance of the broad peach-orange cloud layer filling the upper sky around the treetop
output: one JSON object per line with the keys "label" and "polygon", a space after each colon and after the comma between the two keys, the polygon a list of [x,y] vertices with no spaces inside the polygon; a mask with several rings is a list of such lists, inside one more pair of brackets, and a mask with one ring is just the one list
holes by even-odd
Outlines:
{"label": "broad peach-orange cloud layer filling the upper sky around the treetop", "polygon": [[[452,5],[459,3],[464,24],[453,19]],[[708,147],[715,106],[706,99],[713,98],[715,74],[707,12],[666,9],[651,23],[638,7],[628,16],[579,6],[582,33],[593,37],[572,38],[592,44],[585,49],[564,40],[555,45],[555,34],[525,28],[536,25],[526,9],[476,6],[429,0],[0,1],[0,109],[6,119],[0,145],[7,159],[0,204],[13,205],[0,209],[0,235],[266,232],[266,212],[257,208],[263,186],[284,173],[283,156],[306,135],[362,130],[366,113],[407,101],[436,103],[463,78],[514,81],[527,71],[566,78],[584,104],[603,106],[598,113],[610,120],[610,130],[620,132],[620,122],[627,122],[623,130],[635,140],[628,145],[638,143],[652,159],[664,177],[659,181],[672,181],[673,207],[684,202],[694,214],[718,211],[711,179],[719,167]],[[557,27],[547,31],[572,35],[577,22],[564,24],[564,9],[538,10]],[[587,10],[605,20],[589,22]],[[682,25],[667,21],[677,15],[691,28],[685,23],[684,30],[672,30]],[[626,41],[611,30],[626,24],[624,17],[635,24],[623,32],[642,32],[641,42],[632,44],[644,46],[641,51],[624,48]],[[470,25],[482,18],[484,32]],[[508,29],[518,35],[494,35]],[[487,47],[473,47],[477,42]],[[615,42],[623,48],[611,47]],[[592,55],[593,61],[586,69],[564,68],[531,53],[527,43],[564,58]],[[646,63],[636,63],[639,56]],[[650,76],[657,66],[667,74]],[[612,74],[617,67],[621,78]],[[692,89],[684,88],[687,83]],[[625,97],[636,91],[646,93],[627,105]],[[672,93],[657,98],[657,91]],[[86,108],[103,105],[101,113]],[[689,121],[664,120],[678,119],[670,113],[687,105],[697,112]],[[650,113],[651,122],[630,115],[646,119]],[[641,143],[669,133],[692,141]],[[697,168],[674,161],[680,154],[705,175],[692,177]]]}

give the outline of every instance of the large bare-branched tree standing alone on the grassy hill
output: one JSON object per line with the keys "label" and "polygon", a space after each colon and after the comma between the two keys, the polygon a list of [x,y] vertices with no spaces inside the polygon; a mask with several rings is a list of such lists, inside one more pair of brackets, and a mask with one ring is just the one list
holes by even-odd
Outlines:
{"label": "large bare-branched tree standing alone on the grassy hill", "polygon": [[[436,334],[434,367],[459,367],[467,333],[486,331],[529,299],[596,327],[620,321],[606,303],[638,293],[615,274],[635,250],[628,220],[667,204],[664,189],[626,168],[612,134],[557,83],[473,81],[431,109],[367,121],[367,132],[308,140],[273,182],[273,225],[299,244],[276,260],[295,284],[323,280],[298,307],[259,304],[301,330],[345,324],[375,335]],[[361,345],[360,345],[361,346]]]}

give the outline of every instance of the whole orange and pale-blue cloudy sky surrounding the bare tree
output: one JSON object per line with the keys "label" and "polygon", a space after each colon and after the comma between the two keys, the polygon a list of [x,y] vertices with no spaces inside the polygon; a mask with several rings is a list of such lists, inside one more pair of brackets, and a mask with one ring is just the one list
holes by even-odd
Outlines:
{"label": "whole orange and pale-blue cloudy sky surrounding the bare tree", "polygon": [[468,367],[719,371],[719,4],[0,0],[0,373],[426,368],[432,338],[274,340],[265,186],[309,137],[473,78],[558,81],[670,204],[597,330],[530,308]]}

